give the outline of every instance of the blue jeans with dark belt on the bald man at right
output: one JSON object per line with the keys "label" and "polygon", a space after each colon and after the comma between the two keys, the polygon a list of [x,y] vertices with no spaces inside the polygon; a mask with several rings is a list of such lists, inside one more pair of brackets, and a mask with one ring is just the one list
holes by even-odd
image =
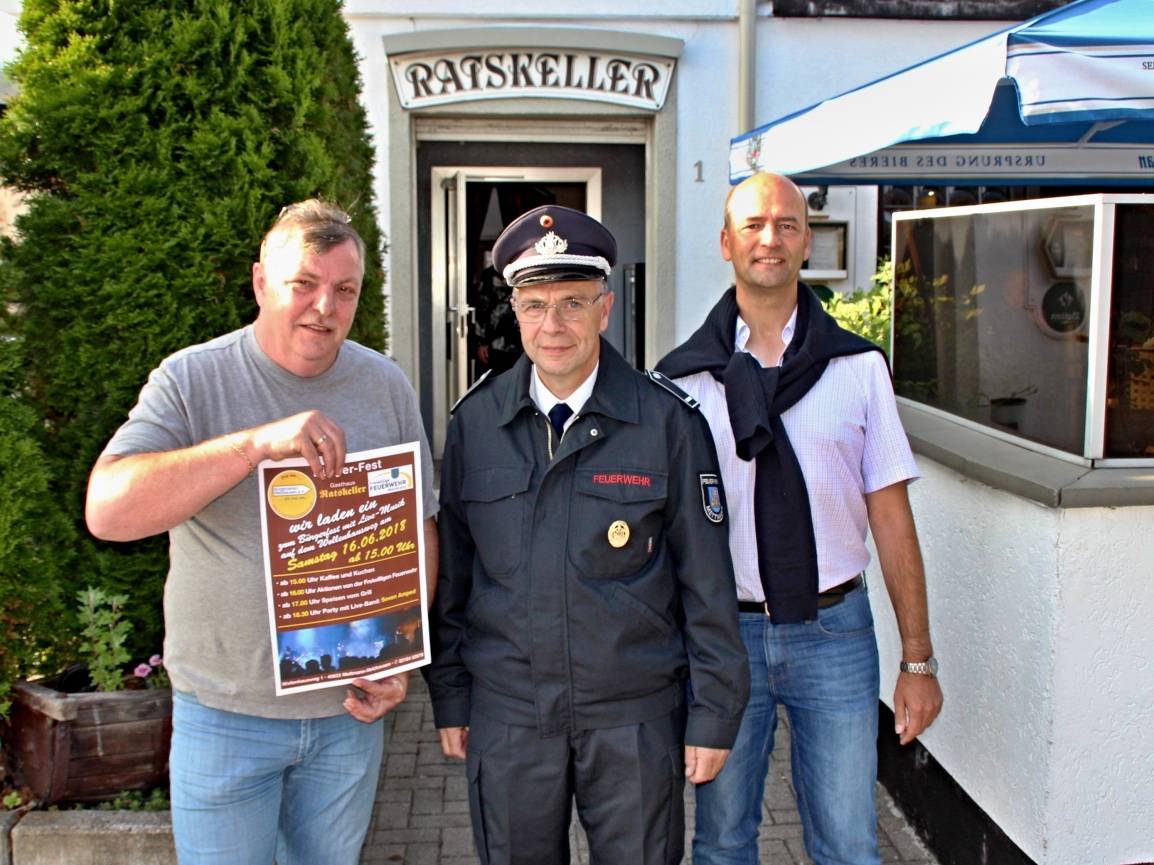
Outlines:
{"label": "blue jeans with dark belt on the bald man at right", "polygon": [[805,851],[817,865],[877,865],[874,617],[864,587],[816,620],[742,612],[751,692],[725,768],[697,788],[694,865],[757,865],[757,827],[778,705],[789,716]]}

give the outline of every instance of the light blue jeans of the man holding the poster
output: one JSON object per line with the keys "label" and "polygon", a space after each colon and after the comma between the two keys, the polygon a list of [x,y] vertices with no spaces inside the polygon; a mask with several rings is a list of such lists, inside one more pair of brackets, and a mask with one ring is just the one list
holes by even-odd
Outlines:
{"label": "light blue jeans of the man holding the poster", "polygon": [[357,865],[383,724],[285,721],[173,694],[172,829],[180,865]]}

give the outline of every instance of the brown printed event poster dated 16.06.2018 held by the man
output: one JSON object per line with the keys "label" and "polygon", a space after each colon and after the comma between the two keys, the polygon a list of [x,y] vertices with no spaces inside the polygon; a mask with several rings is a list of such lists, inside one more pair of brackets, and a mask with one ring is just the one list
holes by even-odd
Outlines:
{"label": "brown printed event poster dated 16.06.2018 held by the man", "polygon": [[420,444],[258,466],[277,694],[377,679],[429,661]]}

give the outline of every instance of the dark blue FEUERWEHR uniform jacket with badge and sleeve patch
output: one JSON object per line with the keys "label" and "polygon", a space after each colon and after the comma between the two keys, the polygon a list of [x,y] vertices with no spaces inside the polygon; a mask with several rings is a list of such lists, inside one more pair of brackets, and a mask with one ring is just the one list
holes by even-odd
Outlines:
{"label": "dark blue FEUERWEHR uniform jacket with badge and sleeve patch", "polygon": [[559,443],[530,373],[522,358],[449,424],[436,725],[467,727],[474,709],[542,736],[639,723],[683,705],[688,679],[687,744],[729,747],[749,668],[704,418],[602,340]]}

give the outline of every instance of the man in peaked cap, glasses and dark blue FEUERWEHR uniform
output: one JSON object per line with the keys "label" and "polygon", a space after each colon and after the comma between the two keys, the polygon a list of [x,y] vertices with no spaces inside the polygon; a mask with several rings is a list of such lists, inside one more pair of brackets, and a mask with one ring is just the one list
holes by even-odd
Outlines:
{"label": "man in peaked cap, glasses and dark blue FEUERWEHR uniform", "polygon": [[721,768],[749,689],[713,441],[605,340],[616,243],[560,206],[502,233],[525,355],[457,406],[426,675],[485,865],[682,858],[684,780]]}

